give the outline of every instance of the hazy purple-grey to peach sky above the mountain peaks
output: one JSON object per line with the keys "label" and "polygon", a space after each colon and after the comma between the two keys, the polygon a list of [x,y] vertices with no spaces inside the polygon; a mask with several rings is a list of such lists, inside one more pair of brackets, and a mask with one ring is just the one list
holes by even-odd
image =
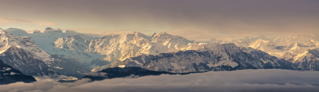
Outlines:
{"label": "hazy purple-grey to peach sky above the mountain peaks", "polygon": [[189,40],[319,34],[318,0],[0,0],[0,27],[166,31]]}

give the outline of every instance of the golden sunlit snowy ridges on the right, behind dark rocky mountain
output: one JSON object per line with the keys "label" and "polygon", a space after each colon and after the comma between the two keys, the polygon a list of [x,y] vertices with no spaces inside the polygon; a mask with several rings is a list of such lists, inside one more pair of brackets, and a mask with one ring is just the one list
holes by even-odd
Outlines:
{"label": "golden sunlit snowy ridges on the right, behind dark rocky mountain", "polygon": [[[248,39],[246,37],[245,39]],[[251,41],[247,44],[241,44],[241,42],[235,41],[219,41],[217,43],[234,43],[239,47],[251,47],[253,49],[262,50],[272,56],[285,59],[289,62],[295,63],[298,67],[318,71],[316,67],[319,65],[316,64],[315,52],[319,48],[319,35],[313,34],[300,34],[290,37],[278,37],[275,39],[268,39],[265,37],[256,37],[261,38],[255,41]],[[254,38],[255,39],[255,38]],[[244,39],[241,39],[242,41]],[[241,44],[241,45],[240,45]],[[265,60],[261,59],[266,62]],[[310,63],[311,62],[311,63]]]}

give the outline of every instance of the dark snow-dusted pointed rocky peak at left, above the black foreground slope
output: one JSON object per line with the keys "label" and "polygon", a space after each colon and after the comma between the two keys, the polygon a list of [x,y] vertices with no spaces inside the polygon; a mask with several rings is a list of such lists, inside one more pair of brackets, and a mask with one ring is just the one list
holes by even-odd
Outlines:
{"label": "dark snow-dusted pointed rocky peak at left, above the black foreground slope", "polygon": [[18,47],[4,46],[0,50],[0,53],[0,59],[3,60],[5,64],[20,70],[26,75],[42,76],[56,74],[55,71],[49,68],[41,60]]}

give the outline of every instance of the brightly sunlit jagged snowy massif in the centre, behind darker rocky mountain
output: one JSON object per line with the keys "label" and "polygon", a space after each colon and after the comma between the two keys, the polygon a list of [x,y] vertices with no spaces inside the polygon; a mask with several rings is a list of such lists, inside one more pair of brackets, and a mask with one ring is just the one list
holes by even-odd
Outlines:
{"label": "brightly sunlit jagged snowy massif in the centre, behind darker rocky mountain", "polygon": [[[140,55],[158,55],[169,50],[176,49],[179,45],[188,45],[195,41],[187,40],[177,35],[170,35],[166,32],[154,34],[148,37],[142,33],[106,35],[97,40],[85,40],[81,35],[69,35],[66,38],[59,38],[55,44],[55,52],[65,52],[65,55],[83,58],[93,61],[96,58],[101,64],[110,64],[116,60],[125,60],[128,57]],[[196,42],[197,43],[197,42]],[[191,45],[191,44],[189,44]],[[194,47],[195,49],[195,47]],[[175,51],[175,50],[174,50]],[[91,63],[93,66],[104,66]],[[93,67],[94,68],[94,67]]]}

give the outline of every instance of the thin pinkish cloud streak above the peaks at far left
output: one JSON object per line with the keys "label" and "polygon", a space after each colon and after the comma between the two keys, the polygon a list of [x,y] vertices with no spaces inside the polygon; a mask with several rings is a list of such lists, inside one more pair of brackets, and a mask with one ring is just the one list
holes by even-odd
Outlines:
{"label": "thin pinkish cloud streak above the peaks at far left", "polygon": [[39,26],[42,26],[42,27],[58,25],[55,22],[0,17],[0,25],[5,25],[9,23],[32,23],[32,24],[38,24]]}

